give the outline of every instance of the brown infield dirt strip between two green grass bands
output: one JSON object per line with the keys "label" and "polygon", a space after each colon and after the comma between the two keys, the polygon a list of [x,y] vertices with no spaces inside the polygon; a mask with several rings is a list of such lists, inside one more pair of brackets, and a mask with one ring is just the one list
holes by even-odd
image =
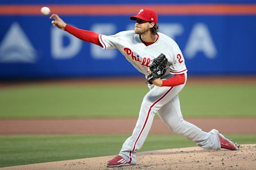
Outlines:
{"label": "brown infield dirt strip between two green grass bands", "polygon": [[[203,131],[218,129],[223,134],[255,134],[256,118],[185,118]],[[131,134],[136,118],[72,118],[0,120],[0,135],[17,134]],[[97,128],[95,128],[97,124]],[[111,126],[109,126],[111,124]],[[228,125],[228,126],[227,126]],[[122,127],[122,128],[118,128]],[[173,134],[155,118],[150,134]]]}

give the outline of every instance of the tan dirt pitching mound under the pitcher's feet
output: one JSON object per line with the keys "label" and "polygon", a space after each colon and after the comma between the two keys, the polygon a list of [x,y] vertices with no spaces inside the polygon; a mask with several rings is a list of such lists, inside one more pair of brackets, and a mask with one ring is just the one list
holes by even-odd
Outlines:
{"label": "tan dirt pitching mound under the pitcher's feet", "polygon": [[133,166],[108,168],[114,156],[65,160],[60,162],[12,166],[2,169],[255,169],[256,145],[242,145],[240,150],[204,150],[199,147],[139,152]]}

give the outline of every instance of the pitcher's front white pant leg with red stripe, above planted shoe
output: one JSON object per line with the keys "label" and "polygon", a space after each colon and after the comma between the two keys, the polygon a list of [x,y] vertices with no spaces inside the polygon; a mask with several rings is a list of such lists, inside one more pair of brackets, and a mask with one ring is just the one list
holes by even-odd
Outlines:
{"label": "pitcher's front white pant leg with red stripe, above planted shoe", "polygon": [[135,153],[140,149],[147,138],[155,113],[172,99],[185,85],[177,87],[154,87],[143,98],[137,124],[129,137],[123,144],[119,153],[127,162],[136,164]]}

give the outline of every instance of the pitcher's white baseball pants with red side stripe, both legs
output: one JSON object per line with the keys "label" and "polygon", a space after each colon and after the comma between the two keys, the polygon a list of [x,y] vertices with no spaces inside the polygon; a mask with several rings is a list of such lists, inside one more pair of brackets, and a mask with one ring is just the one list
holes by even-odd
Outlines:
{"label": "pitcher's white baseball pants with red side stripe, both legs", "polygon": [[204,149],[220,149],[218,136],[214,132],[204,132],[197,126],[183,120],[178,94],[185,84],[176,87],[150,86],[143,98],[139,118],[132,136],[126,139],[119,153],[127,162],[136,164],[136,151],[147,138],[156,113],[173,132],[179,133],[196,142]]}

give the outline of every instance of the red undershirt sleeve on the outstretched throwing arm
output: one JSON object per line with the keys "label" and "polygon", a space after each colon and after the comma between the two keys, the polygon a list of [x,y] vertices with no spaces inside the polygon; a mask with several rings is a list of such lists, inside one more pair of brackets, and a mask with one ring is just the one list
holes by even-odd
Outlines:
{"label": "red undershirt sleeve on the outstretched throwing arm", "polygon": [[102,45],[100,44],[99,35],[96,32],[78,29],[68,24],[65,27],[65,31],[71,33],[71,35],[83,41],[93,43],[102,47]]}

